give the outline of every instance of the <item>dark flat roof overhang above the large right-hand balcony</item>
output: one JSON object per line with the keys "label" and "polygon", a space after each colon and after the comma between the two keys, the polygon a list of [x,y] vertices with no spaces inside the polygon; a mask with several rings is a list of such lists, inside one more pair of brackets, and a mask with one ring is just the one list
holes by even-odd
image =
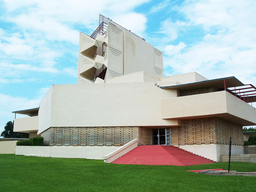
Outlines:
{"label": "dark flat roof overhang above the large right-hand balcony", "polygon": [[199,81],[199,82],[187,83],[187,84],[179,84],[179,85],[166,86],[166,87],[160,87],[160,88],[187,90],[187,89],[196,89],[201,87],[215,87],[217,89],[221,89],[225,87],[225,84],[226,84],[226,88],[239,87],[244,85],[241,81],[236,79],[236,77],[232,76],[232,77],[224,77],[220,79],[212,79],[212,80]]}

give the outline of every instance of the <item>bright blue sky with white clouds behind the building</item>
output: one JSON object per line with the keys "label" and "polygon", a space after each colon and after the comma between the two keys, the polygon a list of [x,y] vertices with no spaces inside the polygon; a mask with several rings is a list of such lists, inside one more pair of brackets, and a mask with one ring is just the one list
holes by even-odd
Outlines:
{"label": "bright blue sky with white clouds behind the building", "polygon": [[99,14],[163,51],[164,76],[256,85],[255,10],[255,0],[0,0],[0,132],[52,84],[76,84],[79,32],[91,35]]}

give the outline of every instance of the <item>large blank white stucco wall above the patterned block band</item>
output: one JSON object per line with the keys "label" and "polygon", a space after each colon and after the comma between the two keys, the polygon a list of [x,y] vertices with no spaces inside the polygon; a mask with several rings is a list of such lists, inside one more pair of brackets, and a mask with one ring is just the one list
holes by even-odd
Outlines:
{"label": "large blank white stucco wall above the patterned block band", "polygon": [[39,114],[38,133],[49,127],[178,126],[179,120],[161,118],[161,99],[174,96],[177,90],[154,82],[53,85],[52,101],[39,109],[48,113],[51,103],[51,118]]}

